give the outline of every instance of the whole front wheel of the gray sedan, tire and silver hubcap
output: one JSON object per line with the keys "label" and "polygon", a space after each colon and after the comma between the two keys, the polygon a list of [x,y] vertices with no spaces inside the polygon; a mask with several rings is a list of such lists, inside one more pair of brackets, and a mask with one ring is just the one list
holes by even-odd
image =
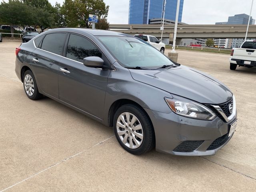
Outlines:
{"label": "whole front wheel of the gray sedan, tire and silver hubcap", "polygon": [[152,124],[140,107],[126,104],[114,115],[114,131],[119,144],[132,154],[143,154],[154,147]]}

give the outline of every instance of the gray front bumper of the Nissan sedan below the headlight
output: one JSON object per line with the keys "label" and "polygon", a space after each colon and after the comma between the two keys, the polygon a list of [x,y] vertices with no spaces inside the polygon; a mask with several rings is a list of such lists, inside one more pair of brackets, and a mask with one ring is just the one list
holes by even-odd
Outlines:
{"label": "gray front bumper of the Nissan sedan below the headlight", "polygon": [[[154,126],[156,150],[159,152],[182,156],[214,155],[233,136],[232,134],[228,137],[228,133],[230,124],[236,121],[236,116],[230,122],[224,122],[219,117],[206,121],[186,118],[174,112],[166,114],[144,109]],[[192,151],[179,152],[182,150],[178,148],[186,142],[194,143],[198,147]]]}

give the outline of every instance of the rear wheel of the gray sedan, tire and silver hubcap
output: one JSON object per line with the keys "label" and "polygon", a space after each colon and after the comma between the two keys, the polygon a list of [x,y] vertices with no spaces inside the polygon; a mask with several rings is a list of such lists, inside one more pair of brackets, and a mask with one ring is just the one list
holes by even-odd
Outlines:
{"label": "rear wheel of the gray sedan, tire and silver hubcap", "polygon": [[36,79],[32,71],[26,70],[23,76],[23,86],[28,98],[32,100],[38,100],[42,98],[43,95],[38,92]]}

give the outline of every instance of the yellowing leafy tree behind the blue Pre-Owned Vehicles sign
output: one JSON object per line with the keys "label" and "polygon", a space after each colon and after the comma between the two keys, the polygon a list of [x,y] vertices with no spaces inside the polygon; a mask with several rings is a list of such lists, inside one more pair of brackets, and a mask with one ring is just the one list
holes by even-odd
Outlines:
{"label": "yellowing leafy tree behind the blue Pre-Owned Vehicles sign", "polygon": [[90,28],[89,14],[105,19],[109,10],[103,0],[65,0],[62,7],[68,27]]}

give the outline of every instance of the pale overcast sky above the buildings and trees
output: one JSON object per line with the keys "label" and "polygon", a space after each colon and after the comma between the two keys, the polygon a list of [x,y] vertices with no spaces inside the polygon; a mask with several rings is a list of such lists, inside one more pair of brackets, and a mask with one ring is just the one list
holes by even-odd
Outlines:
{"label": "pale overcast sky above the buildings and trees", "polygon": [[[49,0],[52,5],[55,5],[55,2],[62,4],[63,1]],[[109,5],[110,24],[128,24],[129,0],[104,0],[104,2]],[[249,15],[251,3],[252,0],[184,0],[182,22],[187,24],[226,22],[228,16],[242,13]],[[252,18],[256,19],[256,1],[252,7]]]}

